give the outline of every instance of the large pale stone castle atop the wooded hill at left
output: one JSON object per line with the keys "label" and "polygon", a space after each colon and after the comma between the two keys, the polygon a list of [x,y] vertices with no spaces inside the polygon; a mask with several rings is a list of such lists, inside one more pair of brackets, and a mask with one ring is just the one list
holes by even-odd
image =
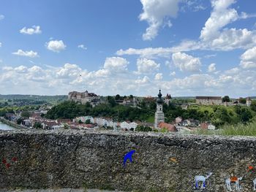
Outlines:
{"label": "large pale stone castle atop the wooded hill at left", "polygon": [[95,93],[72,91],[68,94],[68,100],[86,104],[89,102],[93,107],[100,103],[100,98]]}

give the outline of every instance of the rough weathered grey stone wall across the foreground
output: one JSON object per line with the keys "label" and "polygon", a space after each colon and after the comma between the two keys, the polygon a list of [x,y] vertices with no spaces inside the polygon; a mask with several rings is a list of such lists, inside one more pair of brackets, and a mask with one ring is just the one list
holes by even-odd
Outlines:
{"label": "rough weathered grey stone wall across the foreground", "polygon": [[[194,191],[195,175],[214,172],[207,190],[226,191],[234,175],[252,191],[256,138],[98,131],[0,131],[1,188]],[[124,155],[136,150],[124,168]],[[12,157],[17,157],[15,163]],[[178,163],[170,161],[176,158]],[[0,190],[1,191],[1,190]]]}

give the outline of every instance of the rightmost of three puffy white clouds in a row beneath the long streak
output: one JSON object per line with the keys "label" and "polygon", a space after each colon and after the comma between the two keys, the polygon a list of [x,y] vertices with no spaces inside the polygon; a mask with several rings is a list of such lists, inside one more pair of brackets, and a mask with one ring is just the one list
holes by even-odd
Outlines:
{"label": "rightmost of three puffy white clouds in a row beneath the long streak", "polygon": [[172,59],[174,66],[180,69],[181,72],[200,72],[200,58],[178,52],[173,53]]}

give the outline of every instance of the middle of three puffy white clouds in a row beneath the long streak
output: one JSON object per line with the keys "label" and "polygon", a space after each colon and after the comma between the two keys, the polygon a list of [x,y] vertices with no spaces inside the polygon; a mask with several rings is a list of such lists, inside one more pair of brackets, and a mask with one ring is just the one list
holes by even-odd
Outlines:
{"label": "middle of three puffy white clouds in a row beneath the long streak", "polygon": [[138,74],[148,74],[151,72],[157,72],[159,70],[160,64],[147,58],[138,58],[137,60]]}

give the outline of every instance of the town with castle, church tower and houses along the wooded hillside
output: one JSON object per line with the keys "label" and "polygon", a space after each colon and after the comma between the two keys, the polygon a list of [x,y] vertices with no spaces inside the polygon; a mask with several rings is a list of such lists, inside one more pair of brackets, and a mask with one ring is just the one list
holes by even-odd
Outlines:
{"label": "town with castle, church tower and houses along the wooded hillside", "polygon": [[[10,123],[11,126],[18,126],[18,128],[40,128],[40,129],[79,129],[79,130],[113,130],[113,131],[155,131],[155,132],[189,132],[197,129],[215,130],[219,126],[220,119],[209,120],[207,113],[209,110],[204,110],[203,118],[195,117],[197,107],[206,107],[211,109],[212,107],[240,107],[241,112],[245,112],[246,117],[244,121],[249,121],[255,110],[255,101],[250,98],[230,99],[228,96],[196,96],[195,99],[173,99],[169,93],[166,96],[162,96],[161,90],[157,97],[135,97],[135,96],[98,96],[96,93],[77,92],[72,91],[67,96],[67,102],[73,102],[83,106],[89,106],[91,109],[96,109],[100,105],[110,105],[112,108],[115,105],[127,107],[127,110],[143,110],[150,112],[150,117],[147,120],[141,118],[129,118],[123,117],[121,120],[116,116],[103,116],[90,115],[89,112],[84,112],[83,115],[74,114],[73,118],[59,118],[58,115],[51,112],[54,106],[44,104],[36,108],[36,110],[16,110],[13,112],[1,113],[1,121],[4,123]],[[112,104],[112,105],[111,105]],[[149,108],[145,106],[149,105]],[[58,104],[56,105],[58,107]],[[145,109],[143,109],[143,107]],[[209,108],[210,107],[210,108]],[[168,109],[174,109],[173,111],[167,111]],[[240,109],[239,108],[239,109]],[[151,110],[149,110],[151,109]],[[217,109],[217,108],[216,108]],[[238,108],[237,108],[238,109]],[[181,117],[177,111],[181,110],[183,114],[190,112],[188,115]],[[144,113],[148,113],[148,111]],[[167,114],[165,115],[165,111]],[[250,113],[252,111],[252,114]],[[215,113],[218,112],[215,110]],[[47,118],[51,113],[51,117]],[[118,110],[118,115],[121,112]],[[175,116],[177,114],[177,116]],[[249,114],[249,115],[248,115]],[[54,117],[57,118],[54,118]],[[170,118],[171,116],[171,118]],[[200,116],[200,115],[199,115]],[[209,115],[211,116],[211,115]],[[222,115],[224,117],[224,115]],[[242,116],[242,114],[241,114]],[[221,118],[223,118],[221,117]],[[240,117],[241,118],[241,117]],[[243,118],[241,118],[243,120]],[[232,123],[232,122],[230,122]]]}

